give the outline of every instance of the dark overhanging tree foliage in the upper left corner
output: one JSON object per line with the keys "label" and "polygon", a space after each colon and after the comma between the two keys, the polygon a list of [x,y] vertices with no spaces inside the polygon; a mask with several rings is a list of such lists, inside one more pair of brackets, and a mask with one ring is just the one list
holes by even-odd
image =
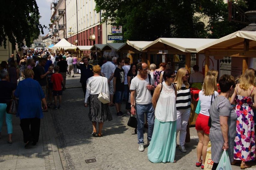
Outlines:
{"label": "dark overhanging tree foliage in the upper left corner", "polygon": [[16,43],[23,47],[24,40],[30,46],[40,32],[44,33],[36,0],[2,1],[0,16],[0,46],[6,47],[7,38],[13,47]]}

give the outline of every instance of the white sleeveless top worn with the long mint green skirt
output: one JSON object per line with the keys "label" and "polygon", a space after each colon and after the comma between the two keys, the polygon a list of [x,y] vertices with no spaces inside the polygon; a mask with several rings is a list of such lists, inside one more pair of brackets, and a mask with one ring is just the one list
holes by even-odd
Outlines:
{"label": "white sleeveless top worn with the long mint green skirt", "polygon": [[176,96],[174,86],[163,82],[163,89],[157,101],[155,116],[160,122],[177,120]]}

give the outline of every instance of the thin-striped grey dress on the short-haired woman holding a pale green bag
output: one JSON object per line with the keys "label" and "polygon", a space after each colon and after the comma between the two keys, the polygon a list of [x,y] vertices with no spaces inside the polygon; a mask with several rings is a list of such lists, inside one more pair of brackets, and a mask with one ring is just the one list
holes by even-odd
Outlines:
{"label": "thin-striped grey dress on the short-haired woman holding a pale green bag", "polygon": [[236,120],[237,114],[232,108],[229,100],[224,96],[216,96],[215,100],[209,109],[209,114],[212,119],[209,138],[212,144],[212,160],[218,163],[222,155],[222,147],[224,144],[223,135],[221,132],[220,116],[228,116],[228,156],[230,162],[234,158],[234,140],[236,137]]}

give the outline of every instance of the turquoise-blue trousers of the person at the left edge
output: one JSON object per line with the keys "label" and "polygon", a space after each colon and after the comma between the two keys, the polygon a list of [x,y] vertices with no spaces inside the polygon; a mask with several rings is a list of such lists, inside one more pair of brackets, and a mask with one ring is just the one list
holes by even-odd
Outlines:
{"label": "turquoise-blue trousers of the person at the left edge", "polygon": [[12,134],[12,114],[6,113],[6,104],[0,103],[0,132],[2,132],[3,126],[3,118],[5,116],[5,121],[7,125],[7,132],[8,134]]}

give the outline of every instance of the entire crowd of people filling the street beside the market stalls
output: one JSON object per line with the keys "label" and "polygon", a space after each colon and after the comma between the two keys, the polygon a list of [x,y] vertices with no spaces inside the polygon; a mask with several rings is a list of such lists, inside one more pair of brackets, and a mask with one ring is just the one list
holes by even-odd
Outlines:
{"label": "entire crowd of people filling the street beside the market stalls", "polygon": [[[52,96],[53,109],[61,109],[66,76],[74,77],[79,69],[84,106],[89,106],[88,116],[93,126],[92,135],[103,136],[103,123],[112,120],[109,107],[115,107],[117,117],[136,115],[139,151],[144,151],[143,130],[145,126],[148,128],[148,159],[151,162],[176,162],[176,148],[187,152],[185,138],[191,111],[190,89],[196,88],[200,90],[200,111],[195,125],[199,138],[195,165],[204,169],[209,141],[213,170],[224,149],[231,164],[240,163],[241,169],[250,167],[247,162],[255,160],[256,71],[253,68],[237,77],[236,83],[233,76],[224,74],[219,77],[216,70],[208,71],[204,77],[198,65],[193,66],[194,73],[189,75],[185,68],[174,71],[166,63],[160,63],[158,68],[145,62],[131,64],[128,57],[107,56],[101,65],[93,65],[87,57],[78,59],[69,53],[65,58],[62,54],[56,56],[47,52],[38,57],[35,59],[31,54],[21,57],[20,70],[13,55],[8,62],[1,63],[0,93],[4,95],[0,97],[0,132],[5,116],[9,143],[12,143],[12,117],[5,111],[6,103],[19,98],[17,116],[20,117],[25,147],[36,145],[42,112],[48,111]],[[24,80],[17,85],[20,71]],[[109,103],[99,100],[100,93],[108,96]],[[126,113],[122,112],[123,101]]]}

